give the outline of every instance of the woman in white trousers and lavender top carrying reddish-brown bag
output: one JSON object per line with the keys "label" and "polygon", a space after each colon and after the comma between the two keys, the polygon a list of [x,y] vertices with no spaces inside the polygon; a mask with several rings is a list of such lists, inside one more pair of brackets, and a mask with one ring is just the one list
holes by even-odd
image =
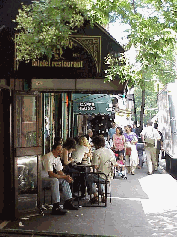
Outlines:
{"label": "woman in white trousers and lavender top carrying reddish-brown bag", "polygon": [[134,175],[136,166],[139,163],[138,153],[136,150],[136,143],[138,138],[136,133],[132,132],[132,127],[127,125],[125,128],[125,165],[128,170],[128,173]]}

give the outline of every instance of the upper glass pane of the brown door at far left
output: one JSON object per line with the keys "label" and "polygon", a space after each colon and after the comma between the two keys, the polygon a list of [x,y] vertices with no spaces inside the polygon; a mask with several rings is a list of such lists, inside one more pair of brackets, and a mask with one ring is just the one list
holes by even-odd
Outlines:
{"label": "upper glass pane of the brown door at far left", "polygon": [[36,97],[17,96],[16,100],[16,134],[17,147],[33,147],[37,145],[36,138]]}

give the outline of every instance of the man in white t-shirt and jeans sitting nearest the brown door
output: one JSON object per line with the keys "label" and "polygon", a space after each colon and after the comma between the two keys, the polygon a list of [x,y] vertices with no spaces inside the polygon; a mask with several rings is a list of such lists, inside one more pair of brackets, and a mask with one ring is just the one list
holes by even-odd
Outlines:
{"label": "man in white t-shirt and jeans sitting nearest the brown door", "polygon": [[62,143],[56,142],[52,151],[47,153],[42,157],[42,178],[43,178],[43,186],[51,185],[52,191],[52,214],[53,215],[63,215],[66,214],[66,210],[63,210],[60,206],[60,191],[59,185],[61,184],[65,203],[63,205],[64,209],[69,210],[78,210],[78,207],[75,207],[72,203],[72,193],[70,189],[69,183],[73,182],[73,179],[63,173],[62,163],[60,160],[60,156],[62,154]]}

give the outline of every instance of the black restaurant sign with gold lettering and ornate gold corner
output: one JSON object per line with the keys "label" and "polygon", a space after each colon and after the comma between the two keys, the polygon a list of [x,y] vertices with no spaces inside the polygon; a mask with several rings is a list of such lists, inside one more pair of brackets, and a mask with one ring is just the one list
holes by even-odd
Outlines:
{"label": "black restaurant sign with gold lettering and ornate gold corner", "polygon": [[[17,55],[16,51],[16,55]],[[26,62],[34,78],[94,78],[101,73],[101,36],[72,35],[66,47],[56,45],[52,57],[43,56]],[[21,65],[21,67],[20,67]],[[16,60],[23,77],[24,66]]]}

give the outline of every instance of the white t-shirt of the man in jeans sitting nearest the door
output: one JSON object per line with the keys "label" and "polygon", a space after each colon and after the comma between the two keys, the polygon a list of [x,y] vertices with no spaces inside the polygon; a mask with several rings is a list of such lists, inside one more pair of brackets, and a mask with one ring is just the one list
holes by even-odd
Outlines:
{"label": "white t-shirt of the man in jeans sitting nearest the door", "polygon": [[63,169],[60,157],[55,157],[52,152],[45,154],[42,158],[42,177],[49,177],[48,171],[53,172],[53,167],[60,171]]}

